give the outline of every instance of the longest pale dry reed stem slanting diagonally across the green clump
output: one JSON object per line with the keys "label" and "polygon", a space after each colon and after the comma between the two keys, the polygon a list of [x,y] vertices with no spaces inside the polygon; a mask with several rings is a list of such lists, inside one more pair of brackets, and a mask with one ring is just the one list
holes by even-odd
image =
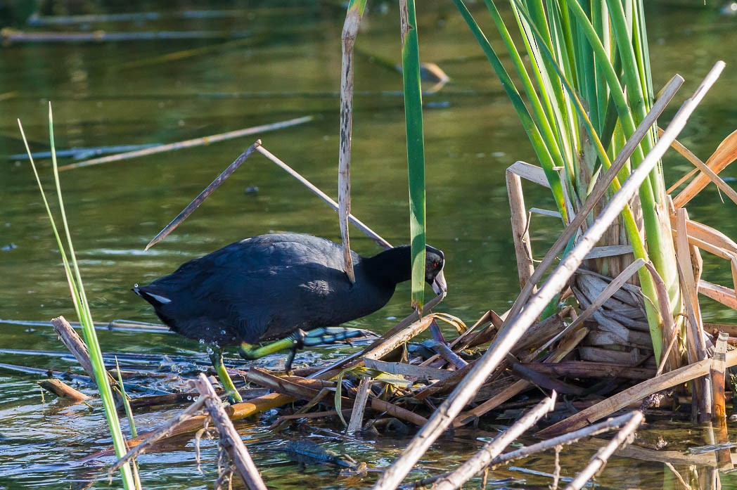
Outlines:
{"label": "longest pale dry reed stem slanting diagonally across the green clump", "polygon": [[[671,124],[668,125],[668,129],[663,133],[663,137],[657,141],[652,150],[640,163],[639,167],[634,169],[632,174],[629,175],[629,178],[622,183],[618,192],[612,195],[607,206],[601,211],[601,214],[599,214],[597,219],[586,231],[583,237],[581,237],[579,242],[573,247],[570,253],[568,253],[565,259],[562,260],[560,265],[553,270],[551,275],[548,277],[548,280],[545,281],[545,284],[542,285],[537,294],[529,301],[522,302],[522,304],[525,304],[525,309],[523,309],[519,315],[510,316],[511,319],[507,322],[506,328],[503,329],[503,332],[500,333],[500,335],[497,335],[492,345],[489,346],[489,349],[476,361],[474,367],[471,369],[469,374],[467,374],[467,377],[464,378],[463,382],[456,386],[453,393],[451,393],[445,402],[438,407],[438,410],[433,413],[433,416],[427,421],[427,424],[422,427],[411,443],[408,444],[402,452],[402,455],[400,455],[399,458],[397,458],[397,460],[394,461],[388,469],[386,469],[379,480],[377,480],[377,483],[373,487],[374,490],[395,489],[399,483],[402,482],[408,472],[410,472],[419,458],[425,454],[436,438],[438,438],[439,435],[441,435],[441,433],[443,433],[447,427],[453,423],[453,419],[458,416],[458,413],[460,413],[472,397],[475,396],[478,388],[481,387],[486,378],[489,377],[489,374],[491,374],[492,371],[494,371],[505,359],[506,354],[509,353],[517,341],[525,334],[529,326],[534,323],[553,297],[559,293],[563,287],[565,287],[570,276],[573,276],[573,273],[576,272],[576,268],[578,268],[583,261],[584,256],[594,248],[596,242],[601,239],[604,232],[609,228],[609,225],[617,219],[622,209],[624,209],[624,206],[626,206],[627,203],[629,203],[629,200],[637,194],[643,181],[645,181],[646,178],[649,178],[649,173],[658,164],[663,154],[666,153],[668,147],[670,147],[671,141],[678,136],[685,126],[688,116],[691,116],[691,113],[694,112],[696,107],[699,105],[699,102],[703,99],[706,91],[708,91],[708,88],[713,85],[723,69],[724,62],[722,61],[717,62],[713,69],[711,69],[707,77],[705,77],[705,80],[699,85],[699,88],[696,89],[694,95],[684,102],[680,110],[671,120]],[[676,82],[676,85],[680,85],[675,77],[674,81]],[[655,105],[659,105],[658,102],[660,102],[660,99],[655,103]],[[654,112],[656,111],[651,111],[648,116],[643,119],[643,123],[638,126],[638,131],[641,130],[643,136],[649,131],[649,127],[654,124],[654,120],[652,120],[654,118],[650,117]],[[648,124],[643,127],[646,121]],[[639,139],[633,137],[627,141],[625,147],[627,147],[632,140],[639,141]],[[629,145],[629,147],[634,147],[634,145]],[[623,158],[621,158],[621,155],[624,153],[625,151],[623,149],[615,161],[622,160]],[[615,168],[614,164],[612,164],[610,170],[613,168]],[[613,179],[614,175],[611,177]],[[602,182],[607,182],[607,179],[604,178]],[[607,185],[602,190],[605,191],[608,186],[609,182],[607,182]],[[580,214],[577,214],[576,218],[579,217]],[[576,218],[574,218],[574,221]],[[579,225],[576,225],[576,229]],[[571,233],[572,237],[575,231]],[[570,239],[570,237],[568,239]],[[563,243],[566,242],[567,239]],[[538,267],[537,269],[542,270],[542,267]],[[528,283],[528,287],[531,288],[531,284],[533,284],[533,281]],[[522,304],[520,304],[518,309],[522,308]]]}

